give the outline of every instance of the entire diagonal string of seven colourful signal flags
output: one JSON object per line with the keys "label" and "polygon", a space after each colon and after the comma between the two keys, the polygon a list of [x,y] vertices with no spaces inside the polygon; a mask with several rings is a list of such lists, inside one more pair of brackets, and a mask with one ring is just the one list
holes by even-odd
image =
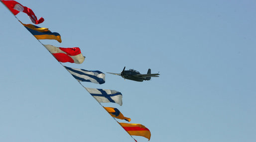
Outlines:
{"label": "entire diagonal string of seven colourful signal flags", "polygon": [[97,89],[85,87],[81,81],[92,82],[97,84],[105,83],[105,74],[101,71],[87,71],[84,69],[76,69],[64,66],[62,63],[76,63],[82,64],[85,57],[81,53],[80,48],[62,48],[55,47],[53,45],[44,45],[39,40],[50,39],[56,40],[61,43],[61,36],[57,32],[51,32],[48,28],[38,27],[33,24],[23,24],[16,15],[19,12],[24,12],[28,15],[29,19],[34,24],[40,24],[44,21],[41,17],[37,19],[34,12],[21,5],[19,2],[14,0],[0,0],[1,3],[9,9],[13,16],[37,39],[37,41],[43,45],[53,57],[63,66],[70,74],[95,98],[95,100],[112,116],[112,118],[130,135],[130,137],[137,142],[132,136],[142,136],[150,140],[150,131],[141,124],[130,124],[130,123],[120,123],[117,119],[131,121],[130,118],[125,117],[117,108],[104,107],[101,103],[117,103],[122,106],[123,95],[121,92],[110,89]]}

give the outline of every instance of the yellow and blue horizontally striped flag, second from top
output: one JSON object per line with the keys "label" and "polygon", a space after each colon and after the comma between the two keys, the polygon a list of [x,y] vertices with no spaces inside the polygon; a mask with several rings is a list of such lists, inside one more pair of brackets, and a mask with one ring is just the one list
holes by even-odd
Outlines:
{"label": "yellow and blue horizontally striped flag, second from top", "polygon": [[[20,22],[21,23],[21,22]],[[21,23],[36,39],[54,39],[61,43],[59,33],[51,32],[48,28],[41,28],[32,24]]]}

